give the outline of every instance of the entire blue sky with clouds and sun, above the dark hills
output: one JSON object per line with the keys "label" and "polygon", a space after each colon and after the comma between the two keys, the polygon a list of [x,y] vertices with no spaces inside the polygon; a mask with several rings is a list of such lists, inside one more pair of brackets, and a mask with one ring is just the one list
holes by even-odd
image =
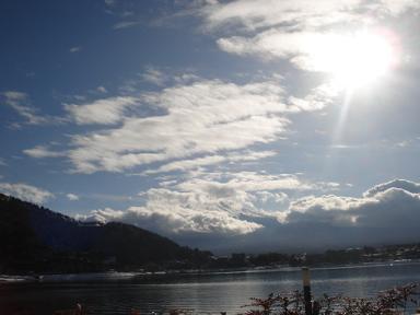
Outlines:
{"label": "entire blue sky with clouds and sun, above the dark hills", "polygon": [[419,0],[3,0],[0,191],[214,253],[420,237]]}

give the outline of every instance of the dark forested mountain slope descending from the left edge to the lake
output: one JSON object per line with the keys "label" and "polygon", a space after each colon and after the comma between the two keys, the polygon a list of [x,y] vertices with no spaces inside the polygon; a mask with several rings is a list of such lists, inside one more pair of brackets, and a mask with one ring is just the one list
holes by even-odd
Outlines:
{"label": "dark forested mountain slope descending from the left edge to the lake", "polygon": [[210,256],[133,225],[83,223],[0,194],[1,273],[194,268]]}

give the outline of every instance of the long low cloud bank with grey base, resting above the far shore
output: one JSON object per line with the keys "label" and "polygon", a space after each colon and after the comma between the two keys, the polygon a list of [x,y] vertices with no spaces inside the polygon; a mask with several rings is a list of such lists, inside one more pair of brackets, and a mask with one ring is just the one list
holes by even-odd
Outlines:
{"label": "long low cloud bank with grey base, resting above the far shore", "polygon": [[[215,240],[225,235],[226,242],[230,240],[225,250],[238,246],[232,240],[238,241],[235,237],[240,235],[244,250],[258,246],[281,249],[290,244],[322,249],[412,242],[420,236],[420,191],[415,182],[380,184],[359,198],[320,195],[292,200],[288,194],[295,189],[319,191],[320,183],[304,183],[291,175],[240,174],[224,178],[220,176],[153,188],[144,194],[144,206],[95,210],[79,218],[129,222],[189,245],[212,244],[219,249],[223,246]],[[268,199],[277,208],[264,209]],[[197,244],[197,237],[203,243]]]}

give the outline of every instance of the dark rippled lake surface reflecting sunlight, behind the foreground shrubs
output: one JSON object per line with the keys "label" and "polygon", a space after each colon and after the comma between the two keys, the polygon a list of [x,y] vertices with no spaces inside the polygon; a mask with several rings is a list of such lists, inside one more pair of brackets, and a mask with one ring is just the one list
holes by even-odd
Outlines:
{"label": "dark rippled lake surface reflecting sunlight, behind the foreground shrubs", "polygon": [[[311,276],[315,299],[323,293],[374,296],[381,290],[420,282],[420,262],[314,268]],[[132,273],[65,278],[75,281],[59,282],[63,277],[56,276],[39,283],[0,285],[0,314],[48,315],[75,303],[85,305],[88,314],[129,314],[131,308],[141,314],[173,308],[194,314],[237,314],[245,313],[247,308],[241,306],[252,296],[302,289],[300,268],[188,275],[147,284]]]}

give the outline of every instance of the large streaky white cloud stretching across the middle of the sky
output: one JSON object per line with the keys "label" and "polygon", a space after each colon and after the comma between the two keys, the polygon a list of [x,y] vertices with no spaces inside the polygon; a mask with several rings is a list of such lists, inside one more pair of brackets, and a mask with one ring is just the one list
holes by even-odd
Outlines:
{"label": "large streaky white cloud stretching across the middle of the sky", "polygon": [[[77,172],[120,172],[152,162],[244,149],[276,140],[289,124],[280,115],[289,108],[282,103],[283,90],[278,82],[236,85],[198,81],[148,93],[141,100],[164,115],[126,116],[118,128],[73,136],[69,158]],[[115,122],[133,102],[130,98],[122,106],[113,102],[109,110],[96,102],[70,108],[80,124],[93,119]],[[100,113],[95,116],[92,109]]]}

